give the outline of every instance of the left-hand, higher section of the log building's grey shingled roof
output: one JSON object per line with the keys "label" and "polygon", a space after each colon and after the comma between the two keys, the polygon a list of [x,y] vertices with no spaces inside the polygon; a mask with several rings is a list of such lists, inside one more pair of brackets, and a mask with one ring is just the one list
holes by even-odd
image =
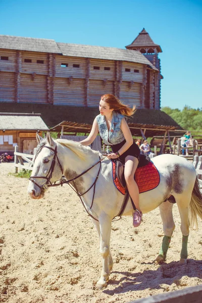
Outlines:
{"label": "left-hand, higher section of the log building's grey shingled roof", "polygon": [[55,40],[0,35],[0,48],[61,54]]}

